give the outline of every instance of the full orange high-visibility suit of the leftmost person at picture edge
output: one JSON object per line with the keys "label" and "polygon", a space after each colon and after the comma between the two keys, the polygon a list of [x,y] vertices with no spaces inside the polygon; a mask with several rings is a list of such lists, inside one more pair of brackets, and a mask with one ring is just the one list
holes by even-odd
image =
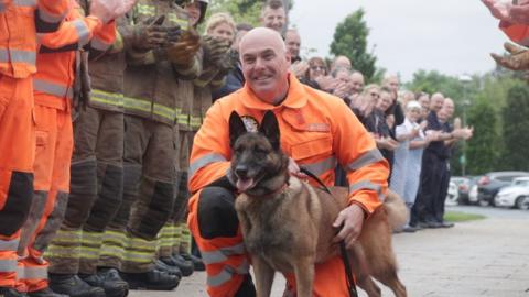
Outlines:
{"label": "full orange high-visibility suit of the leftmost person at picture edge", "polygon": [[0,287],[14,287],[17,248],[33,194],[36,33],[53,32],[68,0],[0,2]]}

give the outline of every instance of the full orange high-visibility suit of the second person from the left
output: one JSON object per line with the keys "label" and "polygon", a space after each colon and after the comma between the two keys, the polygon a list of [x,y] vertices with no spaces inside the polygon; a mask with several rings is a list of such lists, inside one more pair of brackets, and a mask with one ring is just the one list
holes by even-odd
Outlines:
{"label": "full orange high-visibility suit of the second person from the left", "polygon": [[[19,292],[37,292],[47,287],[48,263],[43,252],[58,230],[69,191],[69,165],[73,152],[71,100],[74,96],[76,52],[110,31],[114,22],[102,25],[95,16],[84,16],[82,8],[71,0],[73,9],[55,33],[41,40],[33,78],[36,151],[34,194],[19,244]],[[55,47],[55,48],[50,48]]]}

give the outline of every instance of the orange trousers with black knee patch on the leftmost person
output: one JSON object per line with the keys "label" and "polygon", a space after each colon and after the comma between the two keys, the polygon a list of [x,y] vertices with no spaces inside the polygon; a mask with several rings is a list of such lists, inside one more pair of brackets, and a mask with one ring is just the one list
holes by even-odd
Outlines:
{"label": "orange trousers with black knee patch on the leftmost person", "polygon": [[32,77],[0,74],[0,287],[14,287],[20,228],[30,211],[35,153]]}

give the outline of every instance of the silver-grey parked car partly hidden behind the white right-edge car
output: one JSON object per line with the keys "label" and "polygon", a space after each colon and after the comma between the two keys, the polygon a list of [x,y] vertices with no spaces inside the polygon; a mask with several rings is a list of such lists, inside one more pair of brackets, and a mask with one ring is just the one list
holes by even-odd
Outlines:
{"label": "silver-grey parked car partly hidden behind the white right-edge car", "polygon": [[499,189],[509,186],[516,177],[529,176],[528,172],[493,172],[479,177],[477,200],[481,206],[494,206],[494,197]]}

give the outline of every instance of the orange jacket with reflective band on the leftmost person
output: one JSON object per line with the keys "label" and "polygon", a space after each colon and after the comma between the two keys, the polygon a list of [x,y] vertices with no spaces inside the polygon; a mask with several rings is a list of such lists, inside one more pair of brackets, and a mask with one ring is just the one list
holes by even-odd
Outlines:
{"label": "orange jacket with reflective band on the leftmost person", "polygon": [[24,78],[36,72],[36,33],[54,32],[69,0],[0,2],[0,74]]}

